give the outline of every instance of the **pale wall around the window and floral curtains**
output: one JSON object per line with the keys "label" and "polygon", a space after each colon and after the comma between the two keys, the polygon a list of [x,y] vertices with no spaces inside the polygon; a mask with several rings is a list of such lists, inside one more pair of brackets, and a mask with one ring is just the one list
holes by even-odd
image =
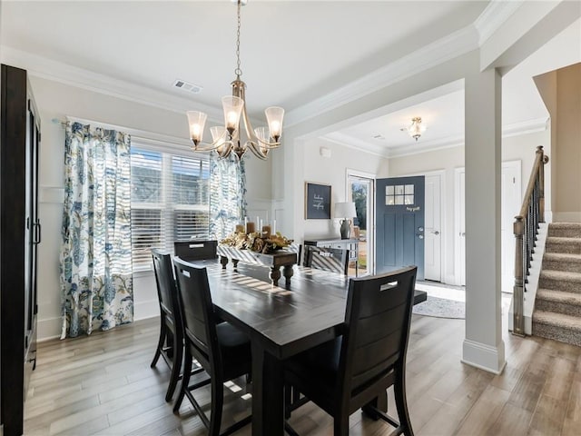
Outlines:
{"label": "pale wall around the window and floral curtains", "polygon": [[[61,332],[59,251],[64,195],[64,128],[51,120],[64,120],[66,115],[70,115],[137,129],[145,136],[147,133],[162,134],[185,142],[188,132],[185,114],[34,76],[31,84],[42,123],[39,217],[43,225],[43,242],[39,245],[38,338],[43,340]],[[248,159],[246,163],[249,208],[270,208],[271,163],[257,158]],[[137,273],[133,286],[135,319],[157,315],[153,273]]]}

